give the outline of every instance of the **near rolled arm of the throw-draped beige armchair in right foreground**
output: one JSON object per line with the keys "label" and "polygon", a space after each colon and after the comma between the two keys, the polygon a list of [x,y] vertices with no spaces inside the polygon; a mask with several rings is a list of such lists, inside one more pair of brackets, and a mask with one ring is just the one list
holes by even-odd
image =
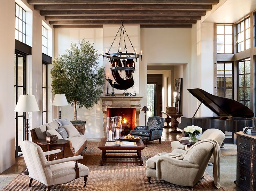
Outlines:
{"label": "near rolled arm of the throw-draped beige armchair in right foreground", "polygon": [[159,157],[159,159],[156,160],[156,167],[160,167],[160,163],[162,161],[165,161],[169,164],[172,164],[174,166],[178,166],[178,167],[184,167],[184,168],[200,168],[199,165],[197,164],[193,164],[193,163],[189,163],[188,161],[185,160],[179,160],[176,158],[172,158],[170,156],[161,156]]}

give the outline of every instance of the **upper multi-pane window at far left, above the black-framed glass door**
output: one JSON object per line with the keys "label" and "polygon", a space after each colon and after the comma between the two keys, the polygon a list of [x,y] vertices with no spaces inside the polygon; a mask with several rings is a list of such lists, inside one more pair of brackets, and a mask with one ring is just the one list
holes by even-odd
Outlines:
{"label": "upper multi-pane window at far left, above the black-framed glass door", "polygon": [[15,39],[26,43],[26,11],[15,4]]}

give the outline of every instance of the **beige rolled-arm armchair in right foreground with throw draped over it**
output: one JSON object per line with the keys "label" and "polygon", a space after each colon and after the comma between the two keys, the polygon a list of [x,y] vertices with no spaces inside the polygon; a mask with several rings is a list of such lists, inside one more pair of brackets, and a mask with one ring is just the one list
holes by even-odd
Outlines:
{"label": "beige rolled-arm armchair in right foreground with throw draped over it", "polygon": [[146,162],[148,182],[156,177],[177,185],[194,186],[204,176],[213,148],[209,142],[195,145],[183,160],[172,158],[168,153],[149,158]]}

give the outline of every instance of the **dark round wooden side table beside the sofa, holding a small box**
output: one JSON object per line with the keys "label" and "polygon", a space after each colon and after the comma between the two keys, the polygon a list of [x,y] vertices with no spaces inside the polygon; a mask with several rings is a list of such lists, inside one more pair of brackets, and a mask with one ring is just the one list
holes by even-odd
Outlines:
{"label": "dark round wooden side table beside the sofa, holding a small box", "polygon": [[[38,145],[42,145],[42,146],[46,146],[46,150],[49,151],[50,148],[49,147],[54,147],[54,148],[61,148],[62,150],[62,155],[64,158],[64,149],[65,149],[65,144],[68,143],[68,140],[65,139],[58,139],[57,142],[46,142],[46,140],[44,139],[38,139],[37,140],[37,144]],[[54,154],[54,160],[57,159],[57,155],[56,153]],[[50,155],[47,156],[47,160],[50,160]]]}

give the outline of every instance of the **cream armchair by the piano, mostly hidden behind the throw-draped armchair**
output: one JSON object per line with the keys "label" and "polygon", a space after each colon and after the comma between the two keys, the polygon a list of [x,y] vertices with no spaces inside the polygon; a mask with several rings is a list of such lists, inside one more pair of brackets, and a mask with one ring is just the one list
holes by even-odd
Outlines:
{"label": "cream armchair by the piano, mostly hidden behind the throw-draped armchair", "polygon": [[[185,139],[188,139],[188,137],[180,138],[180,140],[185,140]],[[203,140],[203,139],[213,139],[213,140],[217,141],[219,145],[222,145],[222,143],[225,139],[225,134],[222,131],[220,131],[219,129],[207,129],[199,137],[199,140]],[[187,146],[181,145],[179,141],[172,141],[171,148],[172,148],[172,150],[174,150],[174,149],[186,150]],[[213,162],[214,162],[214,158],[212,156],[209,163],[213,163]]]}

